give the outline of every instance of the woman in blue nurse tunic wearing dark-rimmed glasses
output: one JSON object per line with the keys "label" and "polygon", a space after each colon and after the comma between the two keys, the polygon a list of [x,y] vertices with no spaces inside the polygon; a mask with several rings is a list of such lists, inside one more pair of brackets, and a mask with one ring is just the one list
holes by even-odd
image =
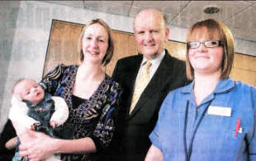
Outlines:
{"label": "woman in blue nurse tunic wearing dark-rimmed glasses", "polygon": [[187,34],[189,85],[170,92],[146,160],[256,160],[256,89],[229,78],[234,39],[220,21]]}

